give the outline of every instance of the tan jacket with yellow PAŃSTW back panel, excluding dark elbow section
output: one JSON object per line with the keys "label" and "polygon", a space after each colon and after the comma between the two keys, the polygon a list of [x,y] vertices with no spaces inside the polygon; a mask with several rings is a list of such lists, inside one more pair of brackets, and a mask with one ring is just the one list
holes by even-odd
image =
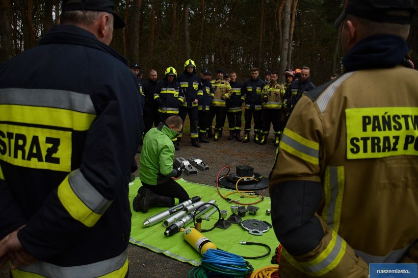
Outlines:
{"label": "tan jacket with yellow PA\u0143STW back panel, excluding dark elbow section", "polygon": [[284,181],[320,182],[325,235],[303,256],[284,250],[281,276],[357,278],[368,263],[417,263],[418,72],[362,70],[320,88],[287,123],[270,194]]}

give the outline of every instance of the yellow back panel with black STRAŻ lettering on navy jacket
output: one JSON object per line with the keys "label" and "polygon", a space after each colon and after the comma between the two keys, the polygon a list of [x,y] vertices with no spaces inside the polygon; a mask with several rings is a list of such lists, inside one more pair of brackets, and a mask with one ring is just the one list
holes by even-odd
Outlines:
{"label": "yellow back panel with black STRA\u017b lettering on navy jacket", "polygon": [[0,159],[32,169],[71,171],[71,132],[0,124]]}

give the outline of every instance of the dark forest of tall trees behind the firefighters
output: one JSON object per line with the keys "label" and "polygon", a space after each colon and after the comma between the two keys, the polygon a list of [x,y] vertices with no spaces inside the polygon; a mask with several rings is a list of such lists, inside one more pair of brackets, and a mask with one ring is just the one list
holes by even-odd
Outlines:
{"label": "dark forest of tall trees behind the firefighters", "polygon": [[[258,67],[266,70],[311,68],[320,85],[341,74],[340,28],[333,26],[347,0],[115,0],[127,26],[115,30],[111,47],[144,76],[159,78],[173,66],[183,72],[187,59],[197,71],[223,68],[238,80]],[[418,8],[418,1],[414,1]],[[35,47],[56,22],[60,0],[0,0],[0,64]],[[418,66],[418,15],[407,40]],[[65,65],[63,65],[65,66]],[[284,76],[280,81],[284,81]]]}

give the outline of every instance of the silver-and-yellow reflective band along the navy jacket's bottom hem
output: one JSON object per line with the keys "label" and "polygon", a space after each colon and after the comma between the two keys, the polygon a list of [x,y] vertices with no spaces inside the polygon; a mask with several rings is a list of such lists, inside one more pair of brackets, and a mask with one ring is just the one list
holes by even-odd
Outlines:
{"label": "silver-and-yellow reflective band along the navy jacket's bottom hem", "polygon": [[120,255],[87,265],[61,267],[51,263],[37,261],[28,266],[13,270],[14,278],[123,278],[128,273],[128,250]]}

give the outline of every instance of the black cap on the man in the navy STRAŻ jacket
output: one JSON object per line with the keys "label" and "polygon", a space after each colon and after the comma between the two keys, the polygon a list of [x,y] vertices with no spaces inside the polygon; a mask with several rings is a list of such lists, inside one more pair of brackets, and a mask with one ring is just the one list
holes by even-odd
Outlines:
{"label": "black cap on the man in the navy STRA\u017b jacket", "polygon": [[125,27],[123,19],[115,13],[115,3],[113,0],[63,0],[62,12],[67,11],[101,11],[113,15],[114,29]]}

